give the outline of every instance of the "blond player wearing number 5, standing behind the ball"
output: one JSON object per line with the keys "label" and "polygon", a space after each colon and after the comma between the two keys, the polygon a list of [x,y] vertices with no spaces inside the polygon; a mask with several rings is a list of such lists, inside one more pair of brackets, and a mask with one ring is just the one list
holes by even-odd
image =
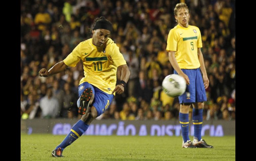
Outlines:
{"label": "blond player wearing number 5, standing behind the ball", "polygon": [[[207,100],[205,89],[209,86],[200,49],[202,47],[201,34],[197,27],[189,25],[189,9],[185,3],[176,5],[174,15],[178,25],[169,32],[166,50],[169,52],[169,60],[174,68],[174,73],[185,78],[187,82],[186,92],[179,97],[182,147],[213,148],[201,139],[203,102]],[[193,106],[193,142],[189,138],[189,109],[191,105]]]}

